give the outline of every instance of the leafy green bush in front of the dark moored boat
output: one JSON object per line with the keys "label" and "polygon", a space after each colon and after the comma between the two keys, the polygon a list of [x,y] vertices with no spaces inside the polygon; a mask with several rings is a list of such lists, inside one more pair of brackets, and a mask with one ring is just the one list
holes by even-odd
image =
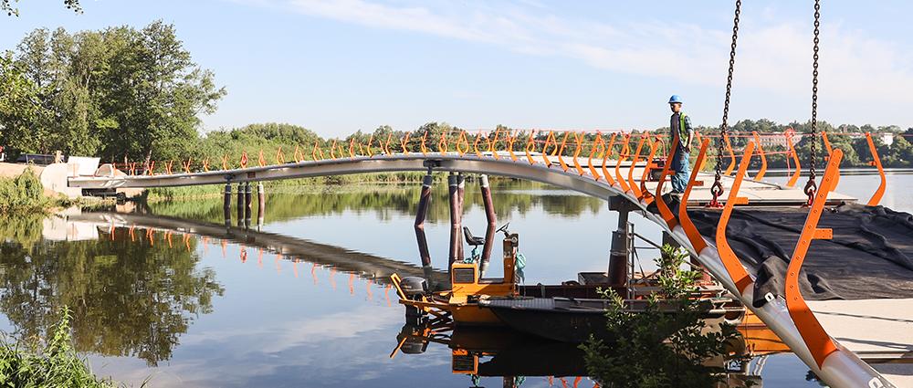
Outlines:
{"label": "leafy green bush in front of the dark moored boat", "polygon": [[695,299],[697,271],[683,270],[687,252],[663,246],[656,259],[659,293],[649,297],[644,311],[624,309],[613,289],[603,291],[612,301],[606,312],[610,338],[591,338],[581,345],[587,372],[603,387],[712,387],[721,368],[711,359],[728,354],[737,331],[721,324],[709,330],[703,320],[706,305]]}

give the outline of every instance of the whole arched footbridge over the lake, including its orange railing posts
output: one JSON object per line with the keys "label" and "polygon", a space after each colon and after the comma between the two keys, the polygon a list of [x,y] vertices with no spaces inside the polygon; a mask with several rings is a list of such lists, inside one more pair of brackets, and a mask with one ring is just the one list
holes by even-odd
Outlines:
{"label": "whole arched footbridge over the lake, including its orange railing posts", "polygon": [[[331,157],[322,157],[322,149],[315,144],[311,160],[302,160],[285,163],[277,154],[276,163],[267,164],[260,154],[258,165],[247,167],[247,155],[242,157],[242,163],[237,168],[230,168],[223,160],[221,170],[210,171],[208,163],[204,164],[204,171],[193,172],[190,163],[184,163],[183,172],[174,172],[172,163],[167,163],[164,173],[154,173],[154,163],[146,169],[147,173],[137,175],[135,166],[128,170],[131,173],[120,173],[114,166],[103,166],[96,176],[74,176],[68,179],[70,187],[83,189],[113,189],[113,188],[146,188],[146,187],[173,187],[198,184],[239,184],[280,179],[306,178],[316,176],[341,175],[352,173],[386,173],[404,171],[429,171],[451,173],[484,173],[518,179],[551,184],[582,194],[593,195],[606,200],[622,200],[631,204],[632,209],[641,213],[645,218],[660,225],[681,246],[687,247],[692,256],[705,267],[714,278],[738,296],[746,307],[750,308],[768,327],[776,332],[787,345],[790,346],[809,368],[826,383],[834,387],[887,387],[908,385],[910,375],[908,372],[878,372],[875,368],[862,360],[860,354],[867,352],[867,359],[903,359],[913,352],[913,336],[890,336],[887,333],[907,332],[908,323],[913,320],[913,312],[908,317],[880,317],[870,310],[865,313],[855,312],[862,306],[881,306],[885,314],[897,315],[897,306],[907,303],[907,299],[897,297],[882,298],[880,296],[862,295],[855,300],[839,300],[839,308],[834,308],[831,302],[806,302],[800,288],[803,287],[804,278],[809,269],[803,269],[806,258],[812,262],[814,247],[810,250],[814,239],[827,239],[835,233],[831,229],[819,228],[818,223],[827,213],[825,205],[842,203],[855,203],[856,199],[834,193],[834,188],[839,180],[839,162],[842,158],[840,150],[830,150],[828,166],[813,196],[799,188],[794,187],[802,173],[799,159],[792,149],[792,139],[789,142],[789,156],[795,161],[795,170],[789,184],[769,184],[762,181],[766,171],[765,153],[761,150],[758,134],[752,134],[753,141],[746,143],[738,151],[740,162],[737,162],[737,152],[729,145],[729,138],[725,138],[729,157],[723,157],[725,164],[729,161],[725,173],[722,173],[721,184],[725,198],[721,195],[714,198],[710,187],[715,183],[715,177],[702,170],[707,159],[709,139],[698,139],[700,152],[694,161],[693,172],[690,175],[685,194],[673,198],[666,193],[669,187],[665,182],[669,177],[669,168],[664,160],[657,155],[663,154],[664,140],[648,133],[640,134],[636,147],[629,142],[637,135],[631,133],[613,134],[606,145],[602,134],[597,134],[593,144],[590,144],[589,154],[581,156],[587,149],[582,144],[582,135],[574,134],[575,144],[565,148],[568,135],[559,143],[550,133],[542,144],[537,144],[530,136],[526,148],[514,146],[513,141],[517,134],[508,134],[508,141],[503,142],[504,150],[498,150],[498,133],[494,134],[494,141],[488,142],[484,151],[478,149],[479,139],[470,146],[466,132],[462,132],[456,139],[456,151],[447,151],[448,140],[442,136],[436,151],[428,151],[425,139],[422,139],[419,152],[414,150],[415,144],[410,143],[408,136],[400,143],[401,151],[394,152],[388,138],[380,146],[381,152],[373,154],[372,142],[367,147],[351,142],[348,152],[336,144],[331,146]],[[826,135],[825,135],[826,136]],[[490,133],[485,135],[486,140]],[[615,139],[618,152],[614,152]],[[871,144],[871,142],[870,142]],[[550,149],[551,148],[551,149]],[[649,149],[646,152],[647,148]],[[573,149],[573,152],[571,150]],[[320,153],[318,153],[320,150]],[[355,152],[359,150],[359,152]],[[367,151],[365,151],[367,150]],[[771,152],[768,152],[770,154]],[[298,152],[296,152],[298,154]],[[320,157],[318,156],[320,155]],[[341,156],[338,156],[341,155]],[[880,163],[877,162],[876,152],[873,147],[876,166],[881,172]],[[752,158],[760,158],[761,170],[749,178],[748,167]],[[722,170],[722,168],[721,168]],[[876,205],[885,190],[884,174],[882,185],[878,187],[868,204]],[[719,208],[705,209],[704,206],[719,200]],[[685,205],[677,205],[677,203]],[[723,206],[725,204],[725,207]],[[765,282],[770,289],[762,297],[754,295],[755,282],[759,278],[758,268],[752,267],[749,257],[744,250],[737,254],[732,246],[735,242],[728,240],[727,225],[731,217],[758,216],[763,218],[764,213],[771,209],[785,215],[799,215],[796,225],[772,225],[777,233],[792,236],[784,237],[787,241],[794,242],[795,250],[788,260],[788,268],[782,270],[780,282]],[[697,213],[696,213],[697,212]],[[703,213],[700,213],[703,212]],[[708,219],[713,219],[709,229],[698,228],[707,225],[706,219],[692,221],[692,216],[700,213],[709,214]],[[831,218],[824,215],[825,223]],[[707,218],[707,217],[705,217]],[[698,222],[698,225],[695,223]],[[803,224],[803,225],[799,225]],[[749,224],[750,225],[750,224]],[[782,227],[781,227],[782,226]],[[777,228],[779,227],[779,228]],[[913,248],[913,245],[910,245]],[[792,246],[790,246],[792,250]],[[837,255],[840,255],[837,251]],[[854,255],[852,250],[845,250],[844,255]],[[913,257],[913,249],[909,252]],[[787,255],[789,256],[789,255]],[[827,257],[819,257],[826,259]],[[859,270],[864,270],[866,264],[859,264]],[[802,269],[802,272],[800,271]],[[800,275],[802,273],[802,275]],[[910,271],[913,274],[913,271]],[[910,278],[913,286],[913,277]],[[771,286],[771,284],[773,284]],[[908,287],[913,288],[913,287]],[[893,299],[892,299],[893,298]],[[758,301],[761,300],[761,303]],[[766,302],[765,302],[766,301]],[[834,313],[835,310],[840,310]],[[848,311],[848,312],[847,312]],[[889,312],[888,312],[889,311]],[[911,311],[911,309],[906,309]],[[857,311],[858,312],[858,311]],[[846,314],[856,316],[855,320],[848,321]],[[881,325],[881,326],[878,326]],[[878,327],[879,330],[871,328]],[[839,332],[839,337],[834,335]],[[879,345],[873,345],[879,344]],[[907,351],[897,351],[906,349]],[[902,354],[900,354],[902,353]],[[904,376],[906,374],[906,377]]]}

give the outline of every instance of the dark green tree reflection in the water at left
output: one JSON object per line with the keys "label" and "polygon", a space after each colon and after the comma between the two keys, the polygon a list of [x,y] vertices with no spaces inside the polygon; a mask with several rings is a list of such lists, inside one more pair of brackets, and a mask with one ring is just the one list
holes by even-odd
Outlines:
{"label": "dark green tree reflection in the water at left", "polygon": [[172,356],[195,316],[211,312],[213,297],[225,291],[212,269],[196,266],[195,239],[189,249],[129,236],[60,242],[40,238],[40,216],[0,225],[0,312],[19,339],[44,334],[66,305],[77,351],[135,356],[154,366]]}

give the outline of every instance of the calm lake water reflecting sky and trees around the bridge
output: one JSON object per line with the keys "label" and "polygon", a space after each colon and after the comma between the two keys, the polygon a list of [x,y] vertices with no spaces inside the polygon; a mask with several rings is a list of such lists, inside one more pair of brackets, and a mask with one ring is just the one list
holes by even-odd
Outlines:
{"label": "calm lake water reflecting sky and trees around the bridge", "polygon": [[[867,200],[877,184],[876,175],[847,175],[837,190]],[[606,204],[535,184],[493,185],[498,224],[509,221],[519,233],[528,284],[605,270],[616,225]],[[261,254],[257,241],[242,247],[203,232],[174,233],[169,241],[160,231],[150,244],[141,227],[116,228],[112,241],[110,229],[85,216],[0,220],[5,240],[0,330],[19,338],[41,334],[67,305],[77,348],[93,370],[129,384],[149,379],[151,386],[474,386],[469,375],[452,371],[446,344],[432,342],[421,354],[391,358],[404,309],[383,279],[350,272],[363,263],[419,262],[413,230],[418,188],[281,190],[287,193],[269,195],[261,229],[297,244],[294,255]],[[882,204],[911,212],[911,192],[913,174],[891,174]],[[435,195],[426,231],[433,263],[442,268],[449,238],[444,184],[436,184]],[[467,185],[466,197],[464,225],[483,235],[477,185]],[[225,230],[216,227],[223,223],[218,198],[132,211],[162,225]],[[638,233],[659,240],[658,227],[636,215],[632,221]],[[236,237],[243,238],[249,237]],[[493,263],[499,263],[499,251],[496,247]],[[656,251],[641,250],[640,256],[650,267]],[[525,355],[529,362],[562,361],[548,351]],[[806,372],[798,358],[779,354],[766,359],[760,374],[764,386],[818,386],[806,381]],[[574,378],[563,383],[572,386]],[[502,386],[502,380],[482,377],[477,384]],[[561,379],[530,376],[522,386],[552,384],[562,386]],[[584,377],[579,386],[593,382]]]}

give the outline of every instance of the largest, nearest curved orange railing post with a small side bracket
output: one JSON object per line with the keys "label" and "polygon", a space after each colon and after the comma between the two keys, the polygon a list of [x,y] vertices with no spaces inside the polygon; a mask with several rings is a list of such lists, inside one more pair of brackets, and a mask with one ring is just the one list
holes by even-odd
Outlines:
{"label": "largest, nearest curved orange railing post with a small side bracket", "polygon": [[790,259],[790,266],[786,269],[786,289],[784,292],[786,298],[786,308],[789,309],[790,317],[796,325],[796,330],[802,336],[805,346],[812,353],[814,362],[820,368],[824,364],[824,359],[828,355],[837,351],[834,341],[827,335],[821,323],[814,318],[814,313],[808,308],[808,304],[803,299],[802,292],[799,289],[799,274],[802,269],[805,254],[808,253],[809,246],[814,239],[830,239],[833,236],[831,229],[818,228],[818,220],[824,213],[824,203],[827,202],[827,194],[834,190],[836,177],[840,174],[840,160],[843,159],[844,152],[837,149],[831,153],[831,158],[824,170],[824,177],[821,185],[818,187],[818,193],[815,194],[812,206],[809,209],[808,217],[805,218],[802,234],[799,241],[796,242],[795,251]]}

